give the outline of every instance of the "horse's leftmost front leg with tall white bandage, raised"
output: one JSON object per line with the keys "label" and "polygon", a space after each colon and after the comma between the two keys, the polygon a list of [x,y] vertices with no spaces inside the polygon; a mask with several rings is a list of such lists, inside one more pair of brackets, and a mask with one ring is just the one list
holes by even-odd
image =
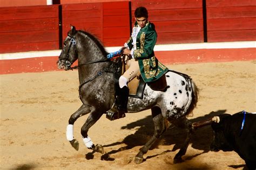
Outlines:
{"label": "horse's leftmost front leg with tall white bandage, raised", "polygon": [[72,147],[75,148],[77,151],[79,149],[79,142],[73,137],[73,125],[79,117],[90,113],[90,111],[90,106],[80,106],[80,108],[78,108],[78,110],[70,116],[69,124],[66,127],[66,139],[70,141]]}

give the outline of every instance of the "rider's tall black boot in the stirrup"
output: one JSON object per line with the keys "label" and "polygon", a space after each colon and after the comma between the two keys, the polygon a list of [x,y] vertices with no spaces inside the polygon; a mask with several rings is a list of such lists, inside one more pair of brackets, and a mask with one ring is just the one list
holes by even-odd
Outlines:
{"label": "rider's tall black boot in the stirrup", "polygon": [[112,107],[106,113],[106,118],[109,120],[115,120],[119,118],[124,118],[127,112],[127,103],[129,97],[129,88],[124,86],[120,89],[116,98],[116,107]]}

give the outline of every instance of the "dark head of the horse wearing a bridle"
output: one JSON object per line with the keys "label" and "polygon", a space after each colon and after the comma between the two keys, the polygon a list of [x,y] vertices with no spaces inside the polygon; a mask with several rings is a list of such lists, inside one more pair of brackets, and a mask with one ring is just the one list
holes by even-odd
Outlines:
{"label": "dark head of the horse wearing a bridle", "polygon": [[77,60],[76,34],[75,26],[71,25],[71,30],[64,40],[64,46],[57,61],[58,69],[70,70],[71,65]]}

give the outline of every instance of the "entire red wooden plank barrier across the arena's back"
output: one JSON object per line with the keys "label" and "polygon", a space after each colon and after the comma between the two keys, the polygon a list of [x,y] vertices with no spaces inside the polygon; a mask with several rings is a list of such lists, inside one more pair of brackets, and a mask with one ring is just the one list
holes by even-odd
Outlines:
{"label": "entire red wooden plank barrier across the arena's back", "polygon": [[[130,36],[130,17],[133,24],[134,10],[145,6],[149,20],[156,25],[157,44],[204,41],[203,1],[97,2],[62,5],[63,39],[72,24],[96,35],[105,46],[122,46]],[[256,39],[256,0],[207,0],[206,3],[208,42]],[[58,5],[0,8],[0,53],[58,49],[59,43],[62,44],[58,14]]]}

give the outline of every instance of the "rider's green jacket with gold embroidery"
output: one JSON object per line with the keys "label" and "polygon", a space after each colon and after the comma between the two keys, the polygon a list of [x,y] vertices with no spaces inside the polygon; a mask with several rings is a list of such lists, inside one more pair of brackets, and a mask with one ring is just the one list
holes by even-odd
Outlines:
{"label": "rider's green jacket with gold embroidery", "polygon": [[[134,24],[137,26],[137,22]],[[157,32],[154,25],[147,22],[144,28],[140,29],[136,38],[136,50],[133,52],[134,59],[138,60],[140,74],[145,83],[156,81],[168,71],[167,67],[161,64],[154,56],[154,45],[157,41]],[[132,37],[127,41],[132,49]]]}

